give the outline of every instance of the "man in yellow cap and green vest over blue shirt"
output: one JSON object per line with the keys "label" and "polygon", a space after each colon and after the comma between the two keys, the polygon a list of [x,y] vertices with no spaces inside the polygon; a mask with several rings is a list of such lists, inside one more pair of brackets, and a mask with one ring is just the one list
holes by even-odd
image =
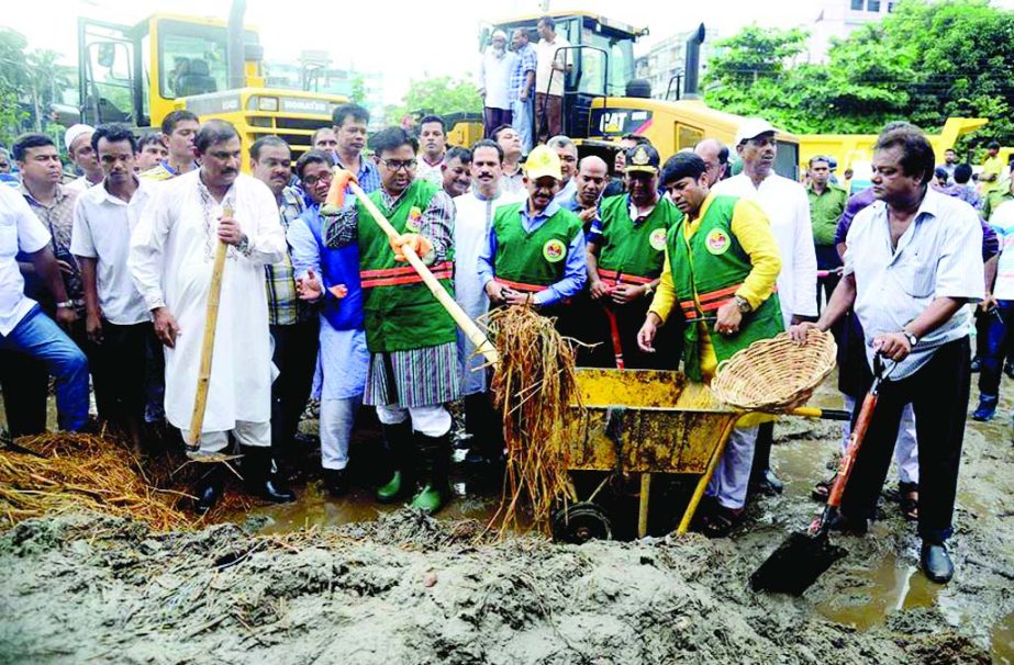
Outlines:
{"label": "man in yellow cap and green vest over blue shirt", "polygon": [[524,167],[528,198],[497,208],[479,255],[479,280],[494,305],[538,307],[566,331],[566,302],[584,285],[584,229],[553,200],[561,180],[556,151],[535,147]]}

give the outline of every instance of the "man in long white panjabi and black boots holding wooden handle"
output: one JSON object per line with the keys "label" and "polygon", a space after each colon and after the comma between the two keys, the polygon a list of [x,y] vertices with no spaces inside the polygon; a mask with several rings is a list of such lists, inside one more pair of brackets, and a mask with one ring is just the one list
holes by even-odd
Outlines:
{"label": "man in long white panjabi and black boots holding wooden handle", "polygon": [[[264,290],[264,267],[285,256],[285,232],[270,190],[239,172],[239,136],[231,124],[204,124],[194,146],[200,169],[158,188],[133,230],[127,261],[165,347],[166,417],[190,439],[208,292],[221,240],[229,247],[200,454],[225,450],[232,433],[248,488],[272,501],[289,501],[293,495],[271,471],[274,367]],[[224,472],[214,464],[202,478],[198,512],[210,510],[221,496]]]}

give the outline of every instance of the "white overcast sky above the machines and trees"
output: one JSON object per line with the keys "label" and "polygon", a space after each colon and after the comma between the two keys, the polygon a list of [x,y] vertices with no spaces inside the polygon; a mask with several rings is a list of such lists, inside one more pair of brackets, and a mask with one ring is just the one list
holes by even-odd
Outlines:
{"label": "white overcast sky above the machines and trees", "polygon": [[[1014,7],[1014,0],[993,3]],[[722,35],[751,22],[789,27],[811,23],[823,4],[822,0],[670,0],[627,5],[581,0],[553,1],[550,9],[580,8],[638,27],[647,25],[651,34],[638,42],[639,55],[653,41],[701,22]],[[161,11],[225,20],[230,7],[230,0],[3,0],[0,25],[24,34],[30,47],[52,48],[73,64],[78,16],[133,24]],[[385,101],[397,103],[411,78],[463,77],[473,71],[483,22],[539,13],[539,8],[537,0],[247,0],[246,23],[259,31],[268,61],[294,61],[303,49],[327,50],[336,67],[382,72]]]}

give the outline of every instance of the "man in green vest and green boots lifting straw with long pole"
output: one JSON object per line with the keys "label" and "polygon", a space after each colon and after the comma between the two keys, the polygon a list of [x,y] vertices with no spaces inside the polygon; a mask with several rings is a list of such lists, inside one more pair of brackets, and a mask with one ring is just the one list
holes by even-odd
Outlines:
{"label": "man in green vest and green boots lifting straw with long pole", "polygon": [[377,406],[393,470],[390,481],[377,491],[377,499],[387,503],[405,496],[419,461],[421,489],[412,506],[436,512],[449,494],[450,414],[444,404],[460,393],[457,329],[405,263],[402,246],[410,245],[454,294],[454,203],[439,187],[415,178],[415,140],[404,129],[379,132],[370,147],[381,181],[370,201],[403,235],[390,241],[363,202],[353,202],[349,195],[341,211],[322,207],[324,239],[331,248],[352,244],[359,248],[370,351],[364,403]]}

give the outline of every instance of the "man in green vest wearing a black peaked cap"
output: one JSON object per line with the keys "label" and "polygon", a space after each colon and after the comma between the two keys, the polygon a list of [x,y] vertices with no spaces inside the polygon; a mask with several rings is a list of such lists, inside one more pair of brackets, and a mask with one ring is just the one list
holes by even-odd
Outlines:
{"label": "man in green vest wearing a black peaked cap", "polygon": [[[662,352],[645,353],[637,347],[666,258],[669,229],[682,214],[658,194],[658,150],[638,145],[624,159],[626,194],[610,196],[599,206],[600,218],[588,237],[588,282],[602,320],[602,348],[615,356],[609,367],[632,370],[675,370],[679,365],[679,338],[668,336]],[[664,331],[668,334],[677,326]]]}

